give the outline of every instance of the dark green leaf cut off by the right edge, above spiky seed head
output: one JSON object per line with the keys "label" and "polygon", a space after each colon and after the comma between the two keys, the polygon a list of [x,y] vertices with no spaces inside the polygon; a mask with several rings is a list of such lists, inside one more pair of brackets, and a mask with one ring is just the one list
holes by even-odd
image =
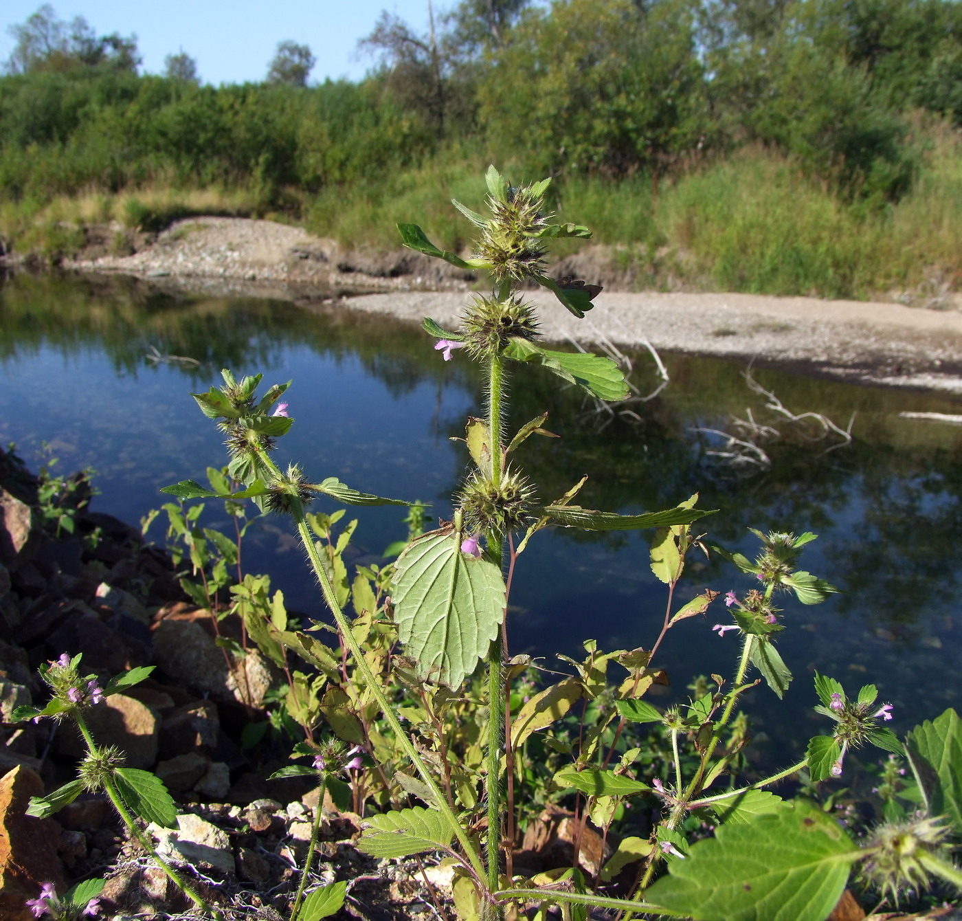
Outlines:
{"label": "dark green leaf cut off by the right edge, above spiky seed head", "polygon": [[931,815],[946,815],[962,834],[962,724],[949,707],[908,733],[905,747],[922,783]]}

